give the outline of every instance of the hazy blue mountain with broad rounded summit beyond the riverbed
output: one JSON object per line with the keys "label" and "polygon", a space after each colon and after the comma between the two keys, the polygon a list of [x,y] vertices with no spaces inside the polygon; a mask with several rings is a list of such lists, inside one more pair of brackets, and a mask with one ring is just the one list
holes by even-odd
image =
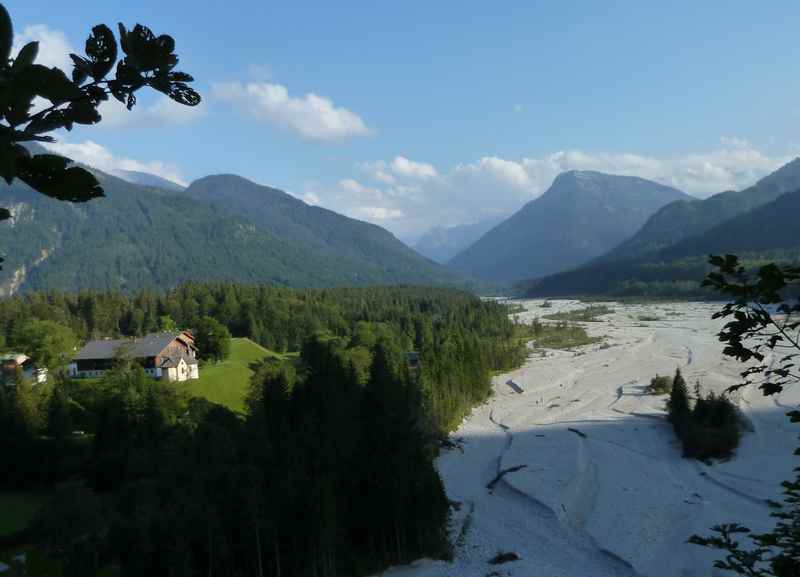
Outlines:
{"label": "hazy blue mountain with broad rounded summit beyond the riverbed", "polygon": [[450,266],[514,282],[566,270],[616,246],[683,192],[633,176],[560,174],[539,198],[460,252]]}

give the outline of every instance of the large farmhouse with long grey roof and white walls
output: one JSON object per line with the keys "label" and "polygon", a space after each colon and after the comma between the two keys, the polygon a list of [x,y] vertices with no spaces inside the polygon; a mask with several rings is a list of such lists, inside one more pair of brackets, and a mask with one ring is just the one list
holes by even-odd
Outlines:
{"label": "large farmhouse with long grey roof and white walls", "polygon": [[72,377],[101,377],[114,364],[114,358],[127,354],[138,360],[145,372],[165,381],[200,378],[197,347],[187,331],[151,333],[138,339],[89,341],[69,365]]}

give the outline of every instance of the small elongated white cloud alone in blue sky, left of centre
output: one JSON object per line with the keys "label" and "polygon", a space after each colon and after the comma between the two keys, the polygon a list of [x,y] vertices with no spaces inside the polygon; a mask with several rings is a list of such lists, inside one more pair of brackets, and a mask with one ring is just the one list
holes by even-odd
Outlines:
{"label": "small elongated white cloud alone in blue sky, left of centre", "polygon": [[313,92],[291,96],[285,86],[269,82],[220,82],[212,91],[219,100],[310,140],[340,140],[371,132],[356,113]]}

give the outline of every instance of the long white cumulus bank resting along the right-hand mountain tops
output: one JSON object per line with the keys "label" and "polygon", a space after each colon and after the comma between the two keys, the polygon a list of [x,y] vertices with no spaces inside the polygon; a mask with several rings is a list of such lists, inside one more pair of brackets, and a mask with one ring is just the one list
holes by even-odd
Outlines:
{"label": "long white cumulus bank resting along the right-hand mountain tops", "polygon": [[[359,163],[356,168],[363,182],[346,178],[327,187],[315,184],[313,194],[317,204],[386,226],[401,238],[413,240],[435,225],[468,224],[511,214],[569,170],[639,176],[707,197],[750,186],[793,157],[766,154],[735,137],[720,139],[712,150],[684,155],[573,149],[516,159],[485,156],[447,171],[398,156]],[[400,158],[407,163],[396,162]],[[430,169],[413,170],[410,166]]]}

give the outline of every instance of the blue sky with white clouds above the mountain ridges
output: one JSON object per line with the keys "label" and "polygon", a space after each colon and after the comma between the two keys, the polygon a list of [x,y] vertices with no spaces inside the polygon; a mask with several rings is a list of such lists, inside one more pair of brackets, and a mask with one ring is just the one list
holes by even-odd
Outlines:
{"label": "blue sky with white clouds above the mountain ridges", "polygon": [[70,70],[92,26],[175,38],[203,96],[140,93],[55,150],[188,184],[233,173],[413,242],[564,170],[705,197],[800,153],[800,3],[13,0]]}

